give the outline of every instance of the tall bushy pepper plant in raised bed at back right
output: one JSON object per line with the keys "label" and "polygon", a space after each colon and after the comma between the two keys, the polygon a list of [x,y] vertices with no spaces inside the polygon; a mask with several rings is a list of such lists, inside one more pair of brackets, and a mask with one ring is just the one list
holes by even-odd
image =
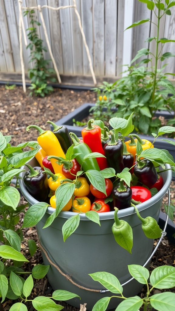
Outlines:
{"label": "tall bushy pepper plant in raised bed at back right", "polygon": [[[132,59],[127,69],[129,74],[120,78],[115,83],[103,82],[103,85],[93,90],[97,92],[98,99],[95,107],[90,109],[95,119],[108,121],[110,117],[117,116],[128,118],[133,113],[135,131],[144,134],[157,132],[161,126],[161,121],[155,117],[157,110],[167,110],[175,112],[175,88],[164,73],[166,65],[158,69],[158,61],[174,57],[175,54],[164,52],[163,48],[167,42],[175,42],[168,38],[160,38],[160,20],[166,14],[171,15],[171,7],[175,6],[175,1],[169,0],[138,0],[145,3],[147,8],[152,11],[157,21],[155,37],[146,39],[148,43],[155,41],[155,54],[149,48],[140,49]],[[157,11],[156,11],[157,10]],[[151,22],[149,18],[136,21],[127,29],[139,26],[143,23]],[[143,58],[136,65],[135,61]],[[155,65],[153,66],[153,60]],[[145,67],[145,64],[147,67]],[[169,73],[168,73],[169,74]],[[174,75],[174,74],[172,74]],[[171,94],[171,96],[168,96]],[[117,110],[115,110],[117,107]],[[168,120],[168,125],[174,125],[174,119]]]}

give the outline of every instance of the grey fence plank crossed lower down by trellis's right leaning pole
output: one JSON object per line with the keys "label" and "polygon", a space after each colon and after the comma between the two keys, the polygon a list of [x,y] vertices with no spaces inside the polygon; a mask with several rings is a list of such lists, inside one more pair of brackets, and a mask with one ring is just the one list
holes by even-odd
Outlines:
{"label": "grey fence plank crossed lower down by trellis's right leaning pole", "polygon": [[[93,23],[92,23],[92,0],[81,1],[82,27],[93,66]],[[83,43],[83,74],[91,75],[87,52]]]}

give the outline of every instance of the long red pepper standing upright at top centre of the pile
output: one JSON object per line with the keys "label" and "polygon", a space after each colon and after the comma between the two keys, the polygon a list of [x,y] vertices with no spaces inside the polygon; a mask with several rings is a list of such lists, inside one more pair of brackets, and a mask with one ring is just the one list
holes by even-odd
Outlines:
{"label": "long red pepper standing upright at top centre of the pile", "polygon": [[[105,155],[101,142],[101,128],[98,125],[92,125],[93,119],[90,119],[87,123],[87,128],[83,128],[81,131],[83,142],[89,146],[92,152],[99,152],[103,156]],[[106,158],[97,158],[97,163],[100,170],[107,168]]]}

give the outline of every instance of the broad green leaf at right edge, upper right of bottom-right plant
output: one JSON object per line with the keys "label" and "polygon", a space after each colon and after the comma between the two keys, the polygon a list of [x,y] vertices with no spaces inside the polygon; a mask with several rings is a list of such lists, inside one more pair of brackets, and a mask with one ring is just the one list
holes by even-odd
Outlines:
{"label": "broad green leaf at right edge, upper right of bottom-right plant", "polygon": [[175,267],[161,266],[155,268],[150,275],[150,283],[159,289],[172,288],[175,286]]}

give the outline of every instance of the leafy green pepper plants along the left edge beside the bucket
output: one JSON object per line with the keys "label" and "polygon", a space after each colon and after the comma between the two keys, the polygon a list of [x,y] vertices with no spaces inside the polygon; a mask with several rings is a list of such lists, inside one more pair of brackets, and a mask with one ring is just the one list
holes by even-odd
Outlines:
{"label": "leafy green pepper plants along the left edge beside the bucket", "polygon": [[[11,146],[10,141],[11,136],[3,136],[0,132],[0,298],[1,303],[6,298],[20,301],[12,305],[11,311],[27,311],[26,304],[31,302],[30,295],[34,287],[33,279],[45,277],[50,267],[37,264],[29,272],[23,269],[23,263],[29,260],[21,253],[22,230],[16,228],[16,225],[19,225],[20,213],[25,213],[25,207],[28,205],[19,205],[18,179],[19,174],[24,171],[21,165],[35,156],[38,144],[25,142]],[[25,147],[32,147],[33,150],[23,151]],[[43,203],[40,205],[42,207]],[[28,240],[28,248],[32,257],[37,251],[33,239]],[[34,298],[32,305],[38,311],[53,308],[61,310],[63,307],[54,300],[67,300],[73,297],[79,296],[68,291],[56,290],[51,297]]]}

